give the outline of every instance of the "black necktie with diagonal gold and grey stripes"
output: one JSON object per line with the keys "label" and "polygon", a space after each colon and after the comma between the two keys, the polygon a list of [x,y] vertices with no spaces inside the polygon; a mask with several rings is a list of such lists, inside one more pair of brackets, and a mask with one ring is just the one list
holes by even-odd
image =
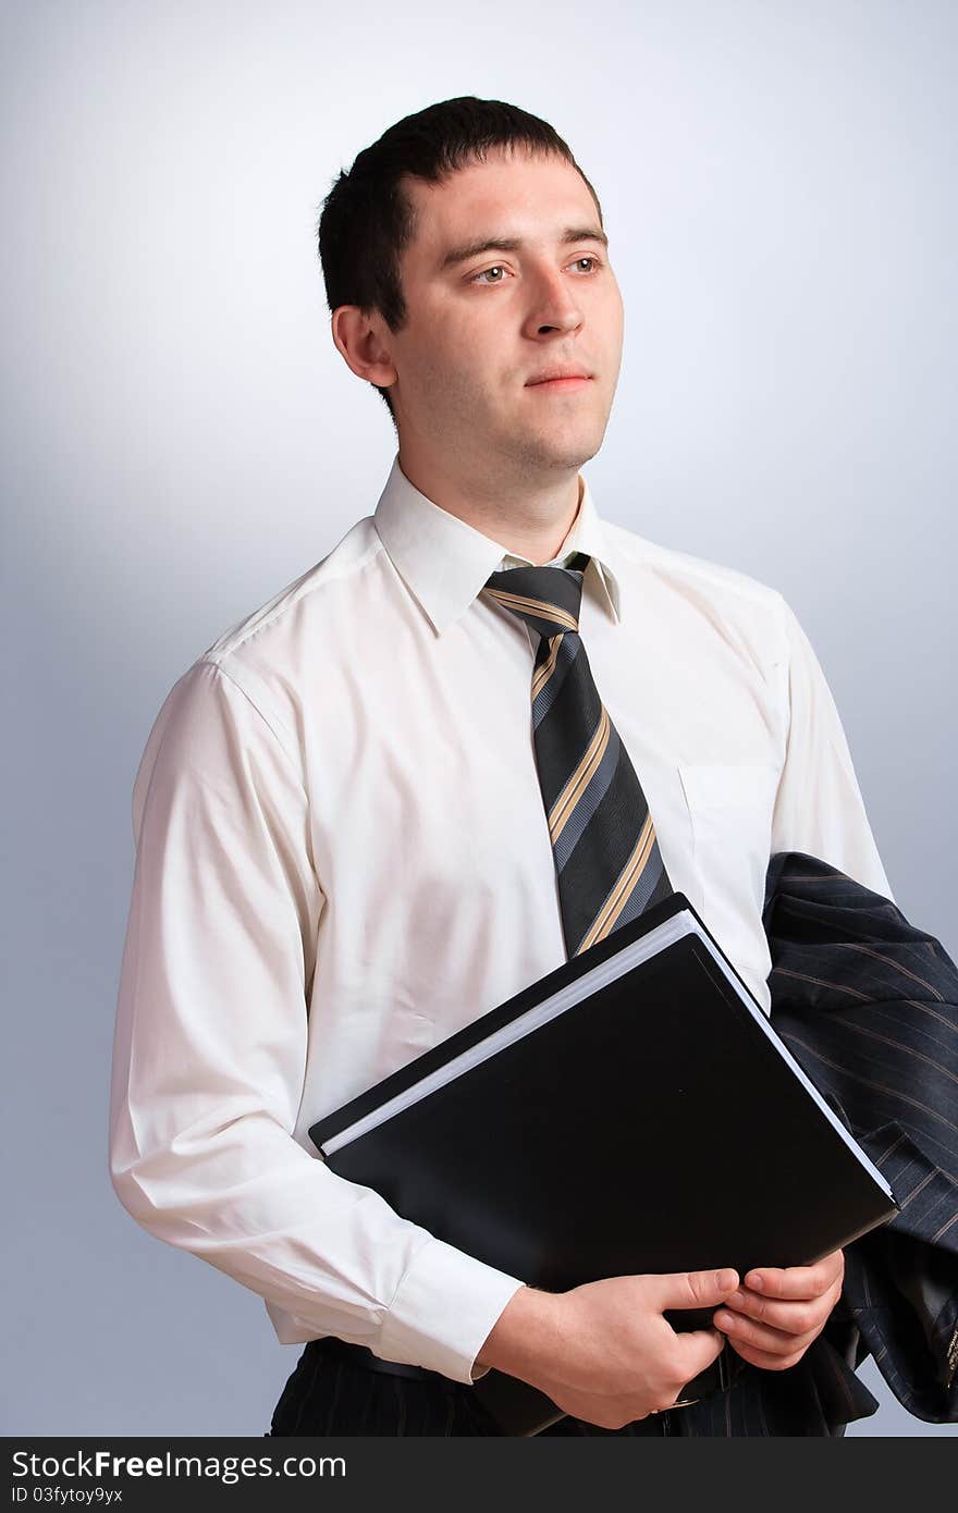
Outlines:
{"label": "black necktie with diagonal gold and grey stripes", "polygon": [[578,634],[589,557],[578,552],[572,561],[493,572],[486,592],[540,635],[533,740],[566,952],[577,956],[673,888],[646,797]]}

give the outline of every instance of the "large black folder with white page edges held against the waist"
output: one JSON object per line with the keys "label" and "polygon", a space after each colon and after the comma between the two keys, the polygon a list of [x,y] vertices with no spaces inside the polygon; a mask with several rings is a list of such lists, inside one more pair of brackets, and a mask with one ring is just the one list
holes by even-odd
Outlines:
{"label": "large black folder with white page edges held against the waist", "polygon": [[[811,1265],[897,1212],[681,893],[309,1135],[337,1176],[549,1292]],[[701,1328],[713,1312],[666,1316]],[[498,1371],[472,1390],[510,1434],[563,1416]]]}

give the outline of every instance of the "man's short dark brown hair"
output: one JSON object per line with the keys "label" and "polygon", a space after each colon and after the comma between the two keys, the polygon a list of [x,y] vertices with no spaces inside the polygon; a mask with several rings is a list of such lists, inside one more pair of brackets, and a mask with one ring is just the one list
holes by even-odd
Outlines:
{"label": "man's short dark brown hair", "polygon": [[[548,121],[504,100],[440,100],[397,121],[378,142],[365,147],[322,201],[316,235],[330,313],[354,304],[366,315],[377,310],[390,331],[400,330],[407,316],[400,257],[415,233],[413,206],[401,179],[410,174],[437,183],[498,147],[563,157],[581,174],[602,222],[599,197]],[[389,390],[375,387],[395,424]]]}

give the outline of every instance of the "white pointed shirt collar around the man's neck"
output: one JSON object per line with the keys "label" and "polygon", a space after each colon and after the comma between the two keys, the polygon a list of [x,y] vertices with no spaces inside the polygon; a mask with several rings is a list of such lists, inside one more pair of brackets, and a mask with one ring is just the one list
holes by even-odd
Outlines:
{"label": "white pointed shirt collar around the man's neck", "polygon": [[[572,552],[586,552],[590,563],[583,592],[592,578],[607,613],[621,620],[621,579],[589,484],[584,478],[581,481],[578,514],[552,563]],[[528,561],[419,493],[400,468],[398,452],[372,520],[392,564],[428,614],[437,635],[466,613],[490,573]]]}

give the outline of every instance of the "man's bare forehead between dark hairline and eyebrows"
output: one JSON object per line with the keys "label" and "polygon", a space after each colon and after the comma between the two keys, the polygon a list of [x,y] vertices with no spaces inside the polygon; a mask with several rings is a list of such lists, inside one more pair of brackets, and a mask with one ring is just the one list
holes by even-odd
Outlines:
{"label": "man's bare forehead between dark hairline and eyebrows", "polygon": [[561,236],[566,225],[599,224],[595,200],[572,163],[525,150],[490,151],[483,162],[428,183],[407,176],[403,191],[413,207],[413,238],[404,263],[436,265],[468,236]]}

